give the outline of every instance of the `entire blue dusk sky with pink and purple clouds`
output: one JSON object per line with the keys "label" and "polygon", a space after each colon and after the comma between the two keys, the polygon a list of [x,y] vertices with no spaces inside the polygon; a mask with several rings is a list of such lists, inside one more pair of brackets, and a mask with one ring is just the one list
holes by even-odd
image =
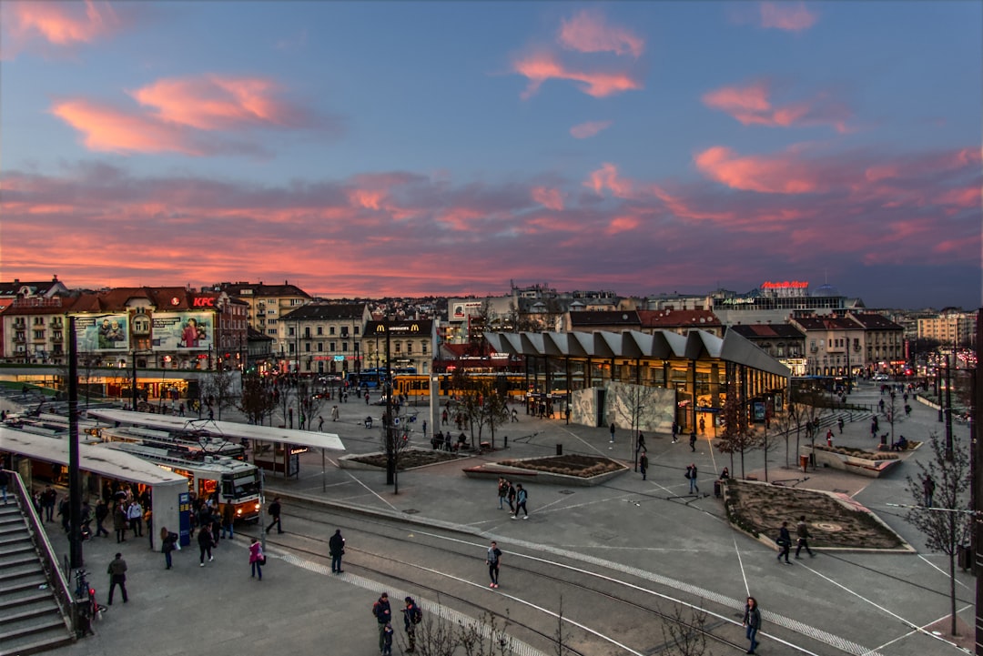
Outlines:
{"label": "entire blue dusk sky with pink and purple clouds", "polygon": [[981,304],[980,2],[0,3],[0,280]]}

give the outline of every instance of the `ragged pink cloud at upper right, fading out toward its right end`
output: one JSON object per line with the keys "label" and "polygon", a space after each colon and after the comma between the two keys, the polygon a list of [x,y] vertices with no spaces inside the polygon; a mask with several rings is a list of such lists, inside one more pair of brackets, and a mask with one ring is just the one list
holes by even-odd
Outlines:
{"label": "ragged pink cloud at upper right, fading out toward its right end", "polygon": [[793,125],[831,125],[838,132],[847,131],[850,112],[841,103],[820,94],[810,101],[776,107],[772,104],[768,82],[744,86],[723,86],[703,94],[703,103],[729,114],[743,125],[788,128]]}

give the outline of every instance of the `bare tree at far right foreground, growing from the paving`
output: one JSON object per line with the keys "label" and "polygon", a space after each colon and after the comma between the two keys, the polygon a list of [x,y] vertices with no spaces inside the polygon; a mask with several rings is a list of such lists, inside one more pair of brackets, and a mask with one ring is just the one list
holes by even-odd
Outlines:
{"label": "bare tree at far right foreground, growing from the paving", "polygon": [[[925,544],[932,551],[949,556],[950,632],[955,627],[955,555],[959,546],[967,544],[971,527],[972,507],[966,498],[971,482],[968,449],[957,436],[953,436],[953,460],[946,460],[946,444],[938,434],[932,433],[932,460],[918,463],[917,478],[907,476],[908,491],[915,506],[904,516],[911,525],[925,535]],[[926,495],[926,477],[935,481],[935,492]],[[931,499],[927,499],[931,496]],[[931,506],[929,506],[931,502]]]}

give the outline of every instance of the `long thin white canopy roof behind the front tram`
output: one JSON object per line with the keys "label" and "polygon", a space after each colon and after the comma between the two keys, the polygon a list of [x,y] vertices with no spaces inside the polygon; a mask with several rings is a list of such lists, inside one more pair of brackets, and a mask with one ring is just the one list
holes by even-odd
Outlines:
{"label": "long thin white canopy roof behind the front tram", "polygon": [[341,438],[334,433],[318,433],[313,430],[257,426],[236,421],[214,421],[170,414],[155,414],[153,412],[131,412],[129,410],[88,410],[88,416],[94,416],[104,421],[129,423],[162,430],[200,430],[211,437],[222,437],[227,440],[246,438],[331,451],[345,450]]}

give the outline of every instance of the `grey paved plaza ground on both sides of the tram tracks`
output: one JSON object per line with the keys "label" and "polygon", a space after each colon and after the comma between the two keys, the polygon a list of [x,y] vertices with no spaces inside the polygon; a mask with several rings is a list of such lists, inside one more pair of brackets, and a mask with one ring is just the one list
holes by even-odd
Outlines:
{"label": "grey paved plaza ground on both sides of the tram tracks", "polygon": [[[867,384],[849,400],[872,407],[879,398],[877,388]],[[337,433],[348,453],[379,450],[378,423],[373,429],[363,423],[367,414],[377,418],[378,407],[367,410],[361,402],[339,404],[339,420],[330,421],[331,405],[322,410],[324,429]],[[923,440],[933,431],[942,431],[936,410],[920,403],[912,406],[911,416],[896,424],[898,433]],[[633,456],[627,431],[617,431],[611,444],[607,428],[534,418],[524,414],[521,406],[517,408],[519,421],[502,426],[495,438],[500,447],[507,435],[507,449],[400,472],[398,494],[385,484],[384,472],[339,468],[339,454],[326,455],[322,469],[321,455],[308,453],[302,456],[296,478],[267,475],[267,498],[273,493],[283,497],[285,523],[292,512],[291,503],[305,500],[452,527],[481,538],[476,541],[496,539],[506,553],[510,549],[553,553],[607,568],[612,575],[618,571],[643,573],[654,588],[676,590],[680,596],[702,595],[725,604],[732,601],[735,613],[743,597],[753,594],[765,611],[766,636],[772,623],[795,627],[834,645],[837,653],[961,653],[952,638],[931,633],[948,615],[946,558],[928,552],[924,538],[903,520],[903,509],[892,505],[910,501],[905,476],[916,473],[915,462],[931,458],[930,449],[911,454],[903,465],[880,479],[824,468],[802,474],[794,466],[794,438],[787,457],[790,466],[785,466],[783,446],[770,451],[770,480],[845,492],[919,552],[848,556],[820,552],[815,560],[779,568],[774,551],[732,530],[723,520],[723,504],[712,494],[713,481],[723,466],[730,467],[735,476],[741,474],[741,468],[739,463],[731,466],[728,458],[716,452],[707,436],[701,436],[694,453],[685,440],[672,443],[668,435],[647,434],[648,480],[629,472],[592,488],[530,482],[530,519],[510,521],[507,512],[497,510],[495,482],[467,478],[462,473],[464,467],[504,458],[549,456],[557,445],[562,445],[564,453],[599,454],[628,463]],[[424,414],[423,408],[409,409],[414,410]],[[222,414],[223,419],[237,418],[234,411],[223,410]],[[414,442],[430,448],[419,430],[420,423],[411,425]],[[965,440],[965,426],[954,428]],[[847,421],[835,443],[871,448],[874,442],[869,419]],[[745,473],[763,480],[765,457],[760,450],[746,454]],[[682,473],[690,463],[700,469],[703,495],[699,497],[686,494],[688,482]],[[55,527],[53,536],[57,536],[57,527],[50,525]],[[66,546],[64,539],[53,542],[59,549]],[[86,566],[96,574],[92,580],[97,583],[99,598],[104,598],[108,582],[102,573],[119,549],[130,566],[130,601],[121,604],[120,599],[115,600],[104,620],[96,624],[95,637],[51,653],[88,656],[150,648],[163,654],[194,651],[231,656],[289,648],[292,653],[315,654],[323,652],[327,644],[332,655],[372,653],[375,631],[369,607],[383,589],[381,583],[351,574],[331,576],[321,564],[276,550],[270,551],[270,562],[260,582],[249,576],[247,544],[241,536],[222,541],[215,560],[204,568],[198,566],[198,550],[193,553],[186,549],[175,553],[175,568],[166,571],[163,556],[150,551],[145,539],[128,541],[120,545],[122,548],[113,539],[88,541]],[[100,579],[106,581],[102,589]],[[957,608],[960,621],[967,627],[973,625],[974,585],[970,574],[957,571]],[[396,593],[388,589],[390,596]],[[353,627],[365,629],[353,638]]]}

